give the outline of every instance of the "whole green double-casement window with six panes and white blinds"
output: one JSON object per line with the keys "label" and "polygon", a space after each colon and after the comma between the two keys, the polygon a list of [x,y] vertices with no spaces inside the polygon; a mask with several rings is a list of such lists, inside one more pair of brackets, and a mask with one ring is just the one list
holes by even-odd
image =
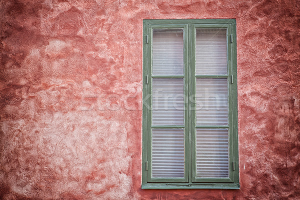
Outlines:
{"label": "whole green double-casement window with six panes and white blinds", "polygon": [[235,19],[143,20],[142,188],[238,189]]}

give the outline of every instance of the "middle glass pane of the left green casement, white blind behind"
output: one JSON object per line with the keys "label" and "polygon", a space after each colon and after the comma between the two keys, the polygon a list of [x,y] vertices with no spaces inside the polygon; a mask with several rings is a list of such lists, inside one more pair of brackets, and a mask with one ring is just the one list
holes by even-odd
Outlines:
{"label": "middle glass pane of the left green casement, white blind behind", "polygon": [[152,125],[183,125],[183,78],[152,79]]}

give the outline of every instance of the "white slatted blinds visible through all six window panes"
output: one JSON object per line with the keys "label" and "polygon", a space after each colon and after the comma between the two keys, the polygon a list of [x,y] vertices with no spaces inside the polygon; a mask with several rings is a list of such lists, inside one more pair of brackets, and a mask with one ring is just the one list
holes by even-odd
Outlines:
{"label": "white slatted blinds visible through all six window panes", "polygon": [[[225,28],[196,29],[195,74],[227,74]],[[152,75],[182,75],[183,30],[153,29]],[[152,78],[151,123],[184,125],[184,78]],[[228,124],[227,78],[196,78],[196,125]],[[228,177],[228,129],[196,128],[196,177]],[[152,177],[184,177],[184,129],[152,128]]]}

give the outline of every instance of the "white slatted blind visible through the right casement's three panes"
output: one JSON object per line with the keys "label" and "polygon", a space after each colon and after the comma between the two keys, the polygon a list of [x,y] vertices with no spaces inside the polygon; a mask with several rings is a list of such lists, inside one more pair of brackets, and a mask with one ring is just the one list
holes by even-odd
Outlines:
{"label": "white slatted blind visible through the right casement's three panes", "polygon": [[[196,75],[227,74],[225,28],[196,29]],[[228,124],[227,78],[196,78],[196,125]],[[228,177],[228,129],[196,128],[196,177]]]}

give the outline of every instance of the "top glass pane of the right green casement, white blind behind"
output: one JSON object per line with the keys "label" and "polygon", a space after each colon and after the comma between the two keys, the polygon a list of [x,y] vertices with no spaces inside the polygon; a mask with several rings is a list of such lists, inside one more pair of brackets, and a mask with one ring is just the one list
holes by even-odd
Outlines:
{"label": "top glass pane of the right green casement, white blind behind", "polygon": [[196,28],[197,75],[227,74],[225,28]]}

